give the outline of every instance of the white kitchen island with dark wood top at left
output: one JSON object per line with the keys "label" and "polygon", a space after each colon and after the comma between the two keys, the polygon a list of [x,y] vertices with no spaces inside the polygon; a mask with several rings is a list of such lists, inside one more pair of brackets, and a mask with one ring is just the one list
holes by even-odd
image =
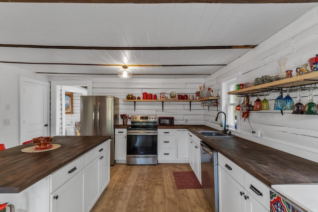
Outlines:
{"label": "white kitchen island with dark wood top at left", "polygon": [[[97,183],[98,195],[95,191],[89,193],[96,197],[109,182],[109,139],[108,136],[57,136],[52,144],[60,144],[61,147],[54,150],[21,152],[22,148],[33,145],[29,143],[0,151],[0,202],[12,202],[17,209],[26,211],[61,211],[57,210],[59,205],[55,202],[63,202],[63,194],[61,197],[60,193],[58,199],[54,193],[62,191],[63,186],[68,186],[67,191],[71,191],[71,179],[77,177],[80,185],[76,187],[81,186],[79,198],[83,202],[77,205],[81,205],[80,211],[88,211],[86,209],[91,203],[87,203],[86,199],[91,198],[87,197],[86,190],[91,191],[92,188],[86,187],[87,181],[98,182],[99,173],[106,175],[102,178],[106,180],[102,181],[102,185]],[[97,179],[92,179],[96,176]],[[98,199],[95,196],[93,203]]]}

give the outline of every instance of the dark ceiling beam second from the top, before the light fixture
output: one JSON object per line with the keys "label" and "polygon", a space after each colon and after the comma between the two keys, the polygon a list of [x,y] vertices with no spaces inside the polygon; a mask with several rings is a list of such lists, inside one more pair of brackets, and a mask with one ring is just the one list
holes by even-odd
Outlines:
{"label": "dark ceiling beam second from the top, before the light fixture", "polygon": [[208,50],[208,49],[253,49],[257,45],[238,46],[173,46],[173,47],[102,47],[102,46],[43,46],[43,45],[21,45],[0,44],[0,47],[11,48],[36,48],[36,49],[72,49],[72,50]]}

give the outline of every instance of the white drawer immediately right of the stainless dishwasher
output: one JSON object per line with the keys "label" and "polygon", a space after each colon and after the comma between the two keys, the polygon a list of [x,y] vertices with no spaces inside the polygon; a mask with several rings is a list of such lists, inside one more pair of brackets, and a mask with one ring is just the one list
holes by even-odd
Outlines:
{"label": "white drawer immediately right of the stainless dishwasher", "polygon": [[245,171],[240,168],[237,164],[232,162],[227,157],[223,156],[222,154],[218,153],[218,162],[219,165],[228,172],[238,183],[244,186],[244,173]]}

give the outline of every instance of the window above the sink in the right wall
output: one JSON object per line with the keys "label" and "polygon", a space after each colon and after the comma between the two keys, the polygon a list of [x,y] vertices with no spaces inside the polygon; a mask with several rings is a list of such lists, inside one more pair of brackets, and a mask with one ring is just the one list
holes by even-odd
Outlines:
{"label": "window above the sink in the right wall", "polygon": [[237,129],[237,111],[235,107],[237,106],[237,96],[236,95],[228,95],[228,92],[235,90],[237,84],[237,79],[232,79],[226,81],[222,84],[223,89],[225,90],[225,108],[227,118],[228,118],[228,125],[230,129]]}

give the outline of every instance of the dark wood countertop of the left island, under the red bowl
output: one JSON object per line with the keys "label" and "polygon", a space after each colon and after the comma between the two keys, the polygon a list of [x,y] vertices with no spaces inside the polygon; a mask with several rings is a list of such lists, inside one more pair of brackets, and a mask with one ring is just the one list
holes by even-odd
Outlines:
{"label": "dark wood countertop of the left island, under the red bowl", "polygon": [[0,193],[19,193],[108,139],[109,136],[56,136],[52,143],[61,147],[51,151],[21,152],[33,143],[2,150]]}

